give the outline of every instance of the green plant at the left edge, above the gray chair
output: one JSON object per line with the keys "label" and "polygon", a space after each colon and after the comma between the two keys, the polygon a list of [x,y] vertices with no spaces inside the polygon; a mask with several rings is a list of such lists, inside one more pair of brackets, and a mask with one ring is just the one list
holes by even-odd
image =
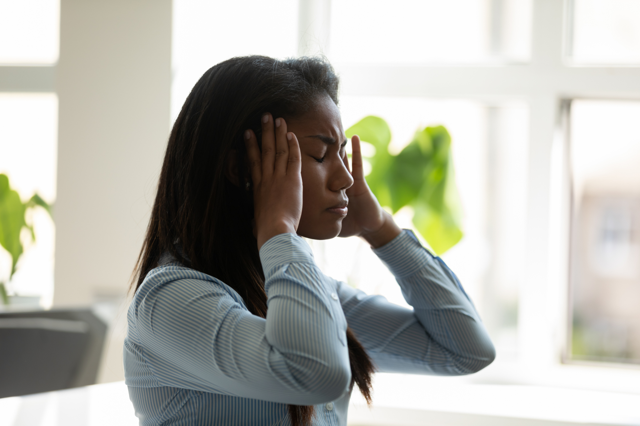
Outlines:
{"label": "green plant at the left edge, above the gray chair", "polygon": [[[35,194],[29,201],[22,202],[20,195],[9,186],[9,178],[6,174],[0,174],[0,245],[12,257],[11,273],[8,281],[11,280],[15,273],[15,266],[24,248],[20,241],[20,232],[22,228],[26,228],[31,232],[31,238],[35,241],[35,232],[33,225],[26,222],[26,212],[29,208],[40,206],[51,215],[51,206],[47,204],[40,195]],[[4,282],[0,282],[0,298],[6,305],[8,303],[8,294]]]}

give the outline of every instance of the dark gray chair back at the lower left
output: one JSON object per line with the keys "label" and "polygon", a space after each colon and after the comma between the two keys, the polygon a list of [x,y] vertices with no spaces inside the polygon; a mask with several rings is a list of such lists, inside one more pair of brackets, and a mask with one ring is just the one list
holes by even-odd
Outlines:
{"label": "dark gray chair back at the lower left", "polygon": [[94,384],[107,326],[91,310],[0,314],[0,398]]}

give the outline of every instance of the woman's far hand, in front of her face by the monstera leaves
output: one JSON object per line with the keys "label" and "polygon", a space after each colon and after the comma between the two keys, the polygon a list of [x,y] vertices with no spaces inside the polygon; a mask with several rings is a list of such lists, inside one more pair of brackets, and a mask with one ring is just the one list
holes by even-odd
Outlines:
{"label": "woman's far hand, in front of her face by the monstera leaves", "polygon": [[402,230],[396,225],[391,215],[380,207],[378,199],[367,185],[362,167],[360,137],[357,135],[351,137],[351,146],[353,171],[349,169],[346,153],[342,158],[353,177],[353,185],[346,191],[349,197],[349,210],[347,217],[342,220],[342,231],[339,236],[360,236],[372,247],[380,247],[396,238]]}

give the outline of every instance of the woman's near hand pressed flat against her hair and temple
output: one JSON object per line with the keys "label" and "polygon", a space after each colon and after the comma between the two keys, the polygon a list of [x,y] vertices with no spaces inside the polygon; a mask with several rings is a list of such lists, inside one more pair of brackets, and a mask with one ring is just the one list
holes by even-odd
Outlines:
{"label": "woman's near hand pressed flat against her hair and temple", "polygon": [[269,238],[296,233],[302,213],[301,156],[298,139],[284,119],[262,116],[262,152],[252,130],[244,142],[253,180],[258,250]]}

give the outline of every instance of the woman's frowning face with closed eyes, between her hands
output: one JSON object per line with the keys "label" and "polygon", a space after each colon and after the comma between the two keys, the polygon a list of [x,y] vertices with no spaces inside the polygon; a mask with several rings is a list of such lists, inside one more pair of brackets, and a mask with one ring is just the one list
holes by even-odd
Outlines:
{"label": "woman's frowning face with closed eyes, between her hands", "polygon": [[343,160],[347,139],[340,112],[329,96],[320,96],[303,116],[287,119],[287,130],[298,138],[302,155],[298,234],[328,240],[340,233],[349,202],[346,190],[353,185]]}

